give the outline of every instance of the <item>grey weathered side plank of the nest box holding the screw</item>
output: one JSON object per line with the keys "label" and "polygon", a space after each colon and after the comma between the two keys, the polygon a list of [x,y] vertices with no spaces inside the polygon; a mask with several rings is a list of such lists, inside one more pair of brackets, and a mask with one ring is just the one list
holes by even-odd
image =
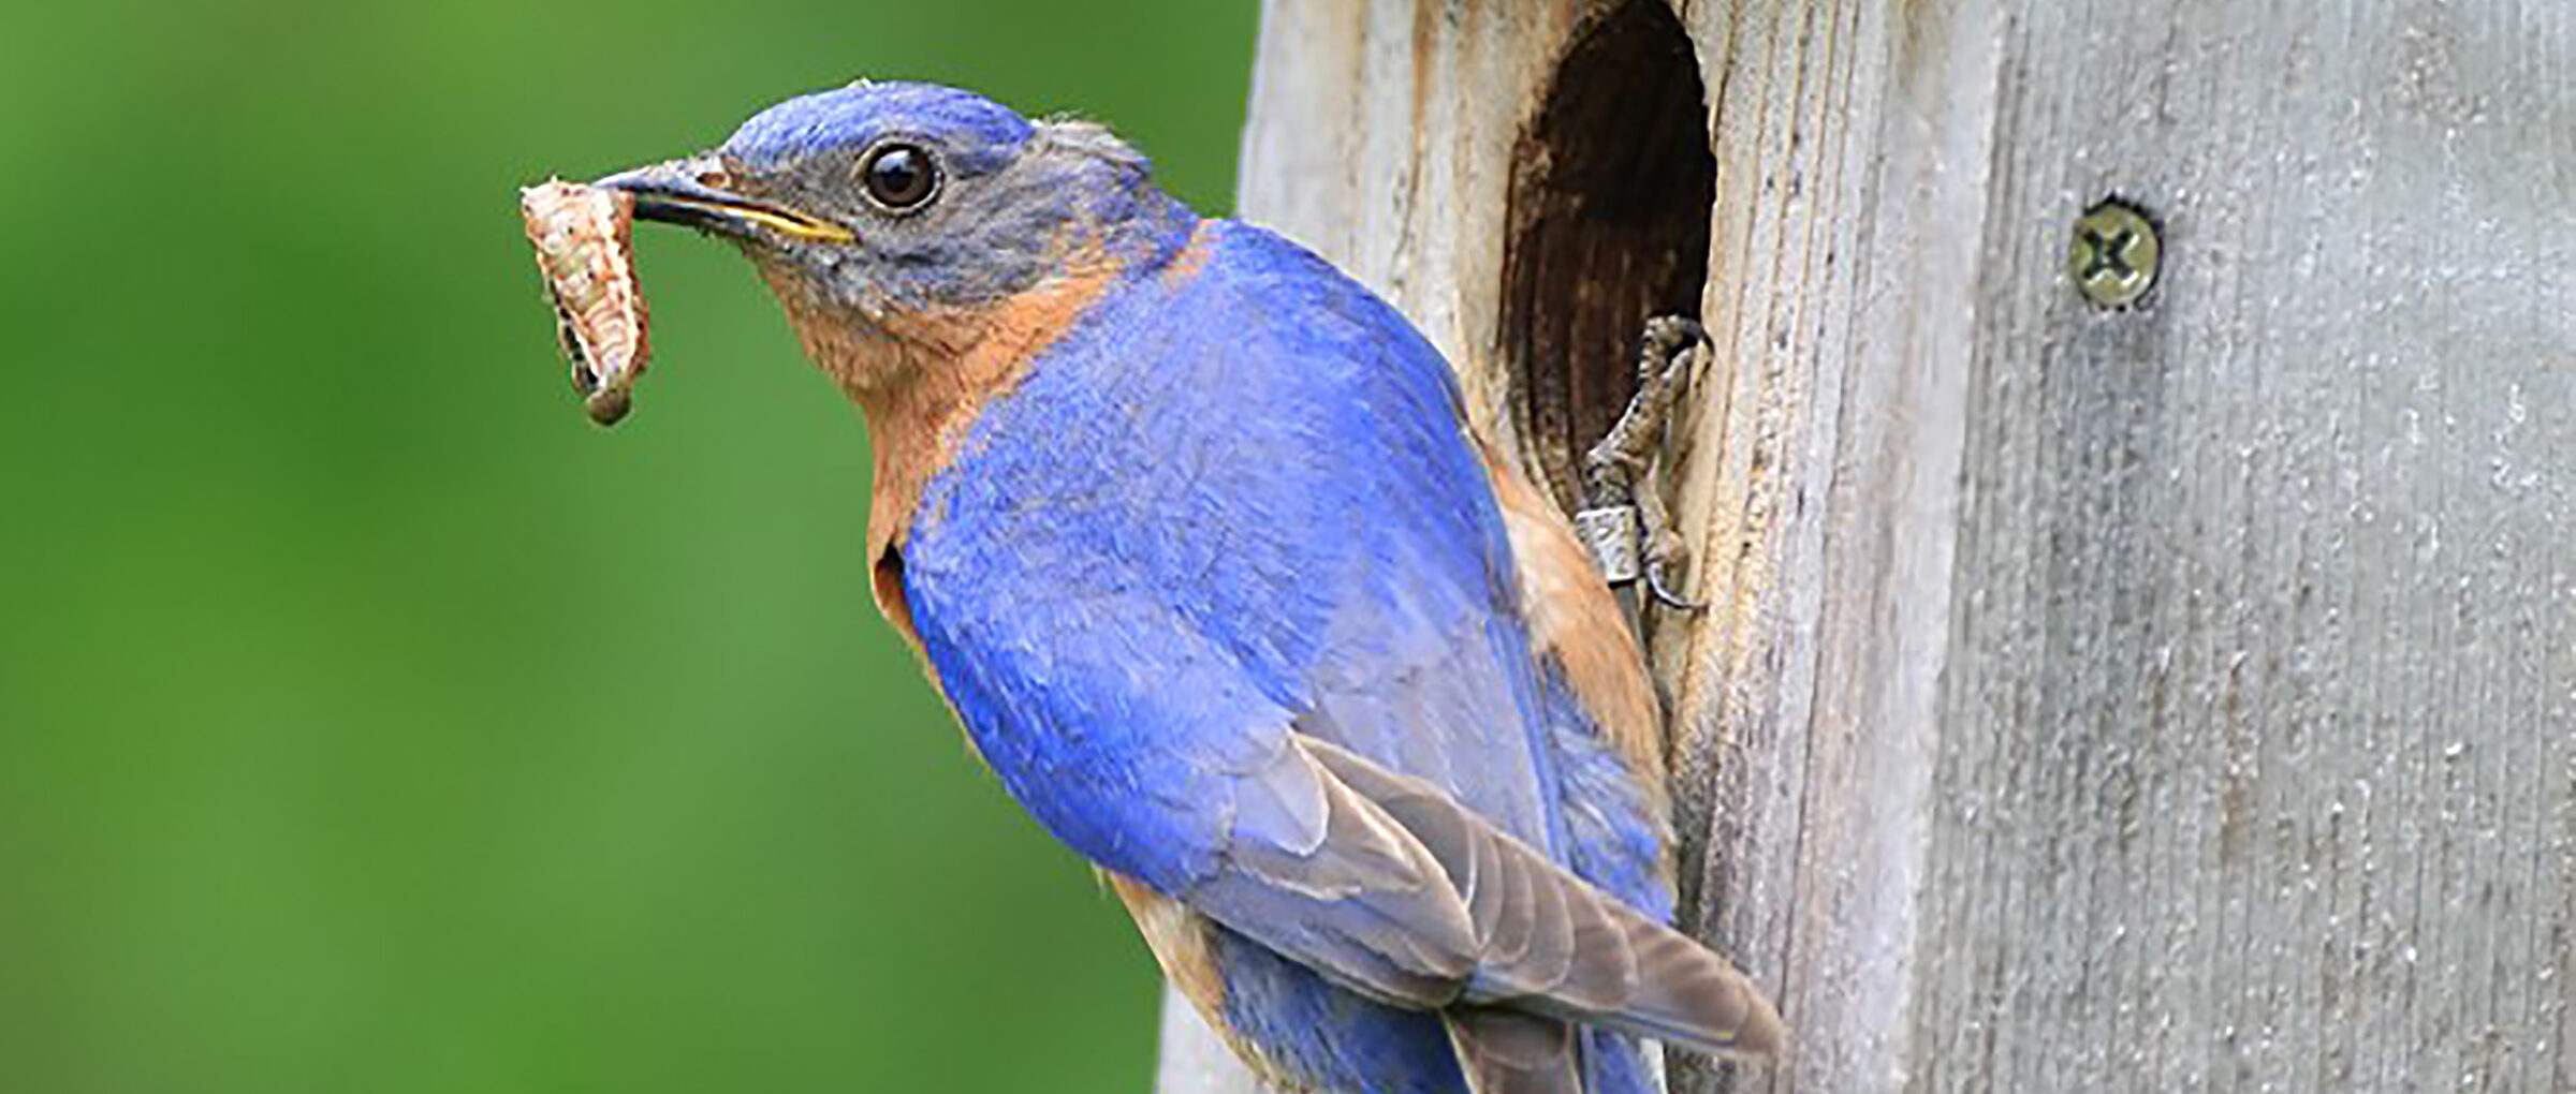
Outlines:
{"label": "grey weathered side plank of the nest box holding the screw", "polygon": [[1914,1086],[2576,1089],[2571,10],[2014,15]]}

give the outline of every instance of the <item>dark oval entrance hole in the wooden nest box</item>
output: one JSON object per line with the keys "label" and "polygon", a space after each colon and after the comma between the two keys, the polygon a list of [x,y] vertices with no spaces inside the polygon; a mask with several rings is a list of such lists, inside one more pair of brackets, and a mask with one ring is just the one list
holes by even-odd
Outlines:
{"label": "dark oval entrance hole in the wooden nest box", "polygon": [[1690,33],[1631,0],[1577,33],[1512,149],[1502,360],[1530,471],[1566,512],[1584,450],[1636,394],[1646,319],[1700,311],[1708,131]]}

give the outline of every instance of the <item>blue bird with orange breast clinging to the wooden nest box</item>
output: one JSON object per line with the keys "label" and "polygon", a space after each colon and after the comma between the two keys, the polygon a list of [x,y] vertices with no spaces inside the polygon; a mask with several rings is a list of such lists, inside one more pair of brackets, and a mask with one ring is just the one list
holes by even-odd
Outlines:
{"label": "blue bird with orange breast clinging to the wooden nest box", "polygon": [[1082,121],[860,82],[600,180],[866,412],[876,602],[1273,1084],[1631,1094],[1783,1027],[1667,927],[1654,690],[1388,304]]}

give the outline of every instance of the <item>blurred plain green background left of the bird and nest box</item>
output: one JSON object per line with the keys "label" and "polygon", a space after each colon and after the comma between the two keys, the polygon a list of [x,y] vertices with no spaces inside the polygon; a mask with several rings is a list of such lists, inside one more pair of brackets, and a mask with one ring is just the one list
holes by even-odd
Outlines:
{"label": "blurred plain green background left of the bird and nest box", "polygon": [[860,564],[858,414],[515,185],[858,75],[1234,190],[1252,3],[31,5],[0,41],[0,1094],[1141,1091],[1157,978]]}

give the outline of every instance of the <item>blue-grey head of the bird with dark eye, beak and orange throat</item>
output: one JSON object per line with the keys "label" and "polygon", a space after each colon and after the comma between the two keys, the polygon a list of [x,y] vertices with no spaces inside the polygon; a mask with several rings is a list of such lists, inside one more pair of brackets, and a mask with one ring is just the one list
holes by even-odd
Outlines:
{"label": "blue-grey head of the bird with dark eye, beak and orange throat", "polygon": [[853,394],[966,353],[1023,293],[1170,260],[1195,224],[1105,129],[922,82],[791,98],[595,185],[742,247]]}

